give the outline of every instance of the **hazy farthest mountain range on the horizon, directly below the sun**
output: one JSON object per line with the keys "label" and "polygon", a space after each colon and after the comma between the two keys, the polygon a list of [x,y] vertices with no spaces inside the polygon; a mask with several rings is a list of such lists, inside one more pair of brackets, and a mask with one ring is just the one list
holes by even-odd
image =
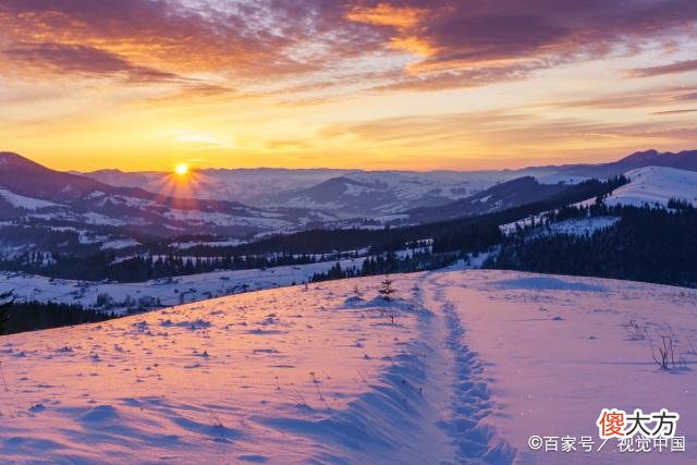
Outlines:
{"label": "hazy farthest mountain range on the horizon, directly below the sun", "polygon": [[[171,174],[100,170],[84,175],[151,192],[171,188]],[[206,169],[194,173],[195,198],[242,201],[259,208],[331,211],[344,218],[389,215],[448,204],[518,175],[514,171],[362,171]]]}

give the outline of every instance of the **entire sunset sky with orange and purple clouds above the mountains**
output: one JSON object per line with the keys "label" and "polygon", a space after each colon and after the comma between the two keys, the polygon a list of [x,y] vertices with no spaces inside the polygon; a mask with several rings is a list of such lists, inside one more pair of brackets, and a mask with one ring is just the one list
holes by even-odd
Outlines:
{"label": "entire sunset sky with orange and purple clouds above the mountains", "polygon": [[0,150],[479,170],[697,148],[695,0],[0,0]]}

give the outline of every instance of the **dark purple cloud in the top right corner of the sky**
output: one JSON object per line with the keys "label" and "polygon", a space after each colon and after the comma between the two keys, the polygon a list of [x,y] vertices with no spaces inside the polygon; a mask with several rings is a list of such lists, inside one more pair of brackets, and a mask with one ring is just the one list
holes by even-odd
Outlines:
{"label": "dark purple cloud in the top right corner of the sky", "polygon": [[[438,12],[419,36],[438,50],[431,62],[487,62],[559,53],[602,56],[638,40],[673,37],[697,20],[692,0],[489,0],[392,2]],[[694,33],[694,32],[693,32]],[[411,34],[411,32],[409,32]]]}

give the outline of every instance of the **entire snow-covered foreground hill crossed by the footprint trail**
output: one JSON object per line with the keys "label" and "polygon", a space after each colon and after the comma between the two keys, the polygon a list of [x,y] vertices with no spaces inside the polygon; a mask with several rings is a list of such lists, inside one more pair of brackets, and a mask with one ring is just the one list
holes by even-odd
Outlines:
{"label": "entire snow-covered foreground hill crossed by the footprint trail", "polygon": [[[0,456],[697,461],[694,290],[503,271],[393,279],[390,303],[369,278],[0,338]],[[658,368],[662,338],[683,368]],[[602,408],[680,413],[686,451],[620,453],[610,440],[598,452]],[[531,436],[568,436],[577,449],[533,452]]]}

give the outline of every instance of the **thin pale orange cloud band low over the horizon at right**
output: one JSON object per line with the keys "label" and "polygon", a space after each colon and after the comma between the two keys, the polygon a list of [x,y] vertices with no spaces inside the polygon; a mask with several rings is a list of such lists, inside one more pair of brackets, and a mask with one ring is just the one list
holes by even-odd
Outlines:
{"label": "thin pale orange cloud band low over the horizon at right", "polygon": [[321,136],[350,138],[374,147],[418,147],[436,150],[473,150],[484,147],[515,154],[530,147],[561,147],[566,144],[602,146],[637,139],[694,140],[694,124],[665,124],[656,121],[613,123],[580,118],[546,118],[515,111],[484,111],[437,115],[390,118],[363,123],[334,124]]}

